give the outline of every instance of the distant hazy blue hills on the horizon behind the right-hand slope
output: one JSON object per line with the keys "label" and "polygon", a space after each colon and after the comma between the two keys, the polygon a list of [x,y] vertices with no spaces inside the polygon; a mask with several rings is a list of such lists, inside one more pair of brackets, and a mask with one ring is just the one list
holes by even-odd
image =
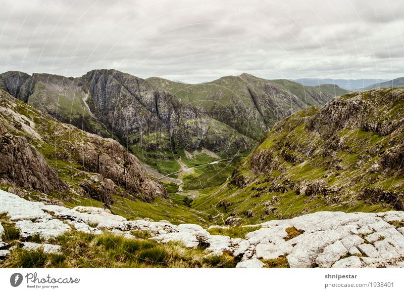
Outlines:
{"label": "distant hazy blue hills on the horizon behind the right-hand slope", "polygon": [[345,90],[363,90],[373,83],[384,82],[388,79],[332,79],[332,78],[297,78],[291,79],[305,86],[318,87],[320,85],[336,85]]}

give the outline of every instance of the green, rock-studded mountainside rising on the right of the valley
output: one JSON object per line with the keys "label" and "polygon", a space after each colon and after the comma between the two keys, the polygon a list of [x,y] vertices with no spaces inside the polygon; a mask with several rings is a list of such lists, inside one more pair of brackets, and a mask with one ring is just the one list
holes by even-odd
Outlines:
{"label": "green, rock-studded mountainside rising on the right of the valley", "polygon": [[224,186],[191,206],[228,223],[402,210],[403,163],[404,90],[351,92],[276,123]]}

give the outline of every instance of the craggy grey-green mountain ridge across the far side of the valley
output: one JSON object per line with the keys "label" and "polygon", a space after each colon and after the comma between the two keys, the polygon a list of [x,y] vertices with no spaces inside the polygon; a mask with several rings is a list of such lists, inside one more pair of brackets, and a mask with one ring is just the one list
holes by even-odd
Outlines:
{"label": "craggy grey-green mountain ridge across the far side of the valley", "polygon": [[[222,157],[249,151],[279,119],[345,93],[248,74],[185,85],[104,69],[77,78],[9,71],[0,75],[0,89],[62,122],[114,137],[156,168],[157,159],[174,161],[180,150],[206,148]],[[173,164],[159,171],[178,171]]]}

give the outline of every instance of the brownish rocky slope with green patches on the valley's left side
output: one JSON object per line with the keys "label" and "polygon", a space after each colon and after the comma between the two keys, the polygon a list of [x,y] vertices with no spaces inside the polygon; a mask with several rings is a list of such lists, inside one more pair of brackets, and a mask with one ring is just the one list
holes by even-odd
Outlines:
{"label": "brownish rocky slope with green patches on the valley's left side", "polygon": [[[114,195],[167,197],[117,141],[85,133],[0,90],[0,182],[46,194],[80,194],[108,205]],[[69,184],[67,183],[69,182]]]}

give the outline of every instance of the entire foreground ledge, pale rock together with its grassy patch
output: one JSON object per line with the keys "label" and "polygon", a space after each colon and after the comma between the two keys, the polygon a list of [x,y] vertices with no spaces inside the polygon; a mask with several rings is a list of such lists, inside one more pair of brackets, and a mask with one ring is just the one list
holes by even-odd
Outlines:
{"label": "entire foreground ledge, pale rock together with its grassy patch", "polygon": [[0,215],[3,267],[404,267],[404,212],[318,212],[239,227],[250,232],[230,237],[215,233],[229,227],[127,221],[103,208],[71,210],[0,190]]}

